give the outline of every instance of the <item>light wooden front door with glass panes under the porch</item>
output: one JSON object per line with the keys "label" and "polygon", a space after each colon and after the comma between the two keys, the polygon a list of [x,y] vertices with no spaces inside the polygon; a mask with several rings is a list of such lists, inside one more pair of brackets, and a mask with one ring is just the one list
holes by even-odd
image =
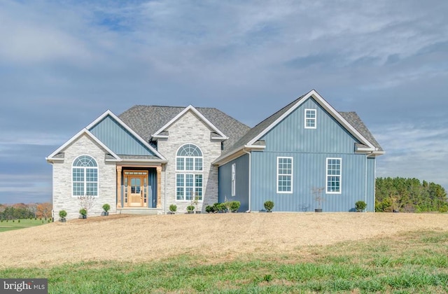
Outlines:
{"label": "light wooden front door with glass panes under the porch", "polygon": [[148,173],[125,172],[125,207],[148,206]]}

